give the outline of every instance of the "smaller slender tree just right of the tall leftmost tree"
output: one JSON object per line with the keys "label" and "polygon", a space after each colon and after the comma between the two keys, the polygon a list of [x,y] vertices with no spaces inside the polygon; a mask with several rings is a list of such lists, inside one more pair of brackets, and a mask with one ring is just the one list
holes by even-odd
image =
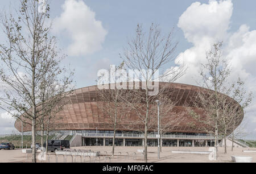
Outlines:
{"label": "smaller slender tree just right of the tall leftmost tree", "polygon": [[[60,68],[59,64],[60,61],[52,65],[40,83],[40,103],[37,107],[42,106],[42,108],[44,108],[39,118],[42,146],[44,131],[46,131],[46,145],[48,145],[49,129],[51,127],[56,129],[56,119],[62,119],[60,115],[57,114],[63,110],[65,105],[70,103],[69,95],[73,92],[71,88],[73,72],[67,72],[67,69]],[[46,146],[46,150],[47,148],[48,146]]]}

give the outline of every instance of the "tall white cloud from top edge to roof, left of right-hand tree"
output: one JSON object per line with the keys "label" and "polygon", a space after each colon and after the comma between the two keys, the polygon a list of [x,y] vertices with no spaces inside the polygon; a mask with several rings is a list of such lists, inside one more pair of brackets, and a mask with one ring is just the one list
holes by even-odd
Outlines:
{"label": "tall white cloud from top edge to roof, left of right-hand tree", "polygon": [[181,52],[175,61],[188,67],[179,82],[195,84],[195,77],[199,76],[199,65],[205,62],[205,52],[214,42],[228,39],[232,12],[231,1],[209,1],[208,4],[195,2],[180,16],[177,26],[193,47]]}

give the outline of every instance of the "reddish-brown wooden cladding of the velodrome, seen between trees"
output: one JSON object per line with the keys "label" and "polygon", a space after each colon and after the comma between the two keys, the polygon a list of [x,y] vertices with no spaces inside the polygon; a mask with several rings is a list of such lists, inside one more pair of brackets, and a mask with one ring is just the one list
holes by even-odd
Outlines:
{"label": "reddish-brown wooden cladding of the velodrome, seen between trees", "polygon": [[[159,82],[159,88],[165,85],[172,90],[171,97],[172,100],[176,101],[177,110],[185,110],[187,106],[193,107],[193,100],[195,100],[197,93],[200,90],[205,90],[193,85]],[[98,108],[99,105],[102,105],[102,101],[100,101],[97,93],[97,86],[76,89],[69,96],[69,100],[71,103],[65,105],[64,109],[56,115],[55,130],[95,130],[96,127],[98,130],[113,130],[108,115]],[[129,119],[136,121],[137,117],[136,114],[130,114]],[[184,123],[181,123],[180,126],[172,126],[175,127],[175,130],[172,131],[201,132],[187,126],[187,122],[192,119],[188,114],[185,114],[184,117],[186,117]],[[135,127],[143,127],[143,125],[135,125]],[[15,122],[15,128],[21,131],[20,121]],[[125,122],[118,126],[118,130],[135,131],[130,129],[130,126]],[[24,126],[23,131],[31,131],[31,126]]]}

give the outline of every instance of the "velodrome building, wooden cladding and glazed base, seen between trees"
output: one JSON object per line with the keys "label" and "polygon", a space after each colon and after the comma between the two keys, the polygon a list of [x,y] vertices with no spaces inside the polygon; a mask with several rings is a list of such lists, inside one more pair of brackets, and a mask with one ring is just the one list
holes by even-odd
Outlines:
{"label": "velodrome building, wooden cladding and glazed base, seen between trees", "polygon": [[[168,88],[174,91],[172,97],[177,102],[173,109],[177,112],[185,111],[187,107],[196,107],[193,105],[193,100],[200,90],[204,90],[204,88],[193,85],[159,82],[159,88],[164,85],[168,85]],[[76,89],[69,96],[69,100],[71,102],[56,115],[57,119],[54,121],[55,126],[52,131],[59,132],[60,135],[55,138],[65,139],[68,135],[73,135],[71,144],[76,143],[76,146],[112,146],[113,126],[108,115],[98,107],[102,101],[98,98],[97,85]],[[237,102],[234,101],[234,103]],[[239,104],[237,103],[237,105]],[[196,108],[194,109],[196,110]],[[127,117],[137,123],[137,114],[127,114]],[[170,130],[162,135],[162,146],[214,145],[212,134],[208,134],[208,131],[202,129],[196,129],[195,126],[189,126],[188,123],[193,119],[191,115],[184,114],[183,117],[179,125],[170,125]],[[240,118],[236,127],[242,122],[243,115],[240,115]],[[198,126],[204,125],[198,123]],[[141,129],[143,125],[134,127],[131,129],[125,122],[119,123],[115,140],[116,146],[143,146],[144,135]],[[22,124],[19,120],[15,122],[15,128],[22,131]],[[31,126],[23,125],[23,131],[31,131]],[[230,133],[232,131],[229,130]],[[157,132],[154,130],[148,130],[148,146],[157,146],[156,134]]]}

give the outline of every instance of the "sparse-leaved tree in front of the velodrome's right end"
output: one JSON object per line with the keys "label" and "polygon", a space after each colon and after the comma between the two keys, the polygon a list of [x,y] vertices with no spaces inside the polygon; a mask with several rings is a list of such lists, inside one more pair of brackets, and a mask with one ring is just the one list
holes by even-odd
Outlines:
{"label": "sparse-leaved tree in front of the velodrome's right end", "polygon": [[[193,109],[190,110],[196,121],[204,125],[201,129],[214,133],[216,152],[220,136],[224,136],[226,139],[226,136],[231,133],[229,132],[231,130],[230,125],[234,129],[234,126],[238,123],[232,124],[232,121],[239,118],[241,122],[241,115],[243,115],[243,110],[240,109],[240,101],[238,103],[234,102],[240,94],[237,93],[232,96],[232,92],[236,89],[234,85],[227,82],[231,68],[228,61],[222,56],[221,47],[222,42],[214,44],[213,48],[207,52],[207,63],[201,64],[201,79],[203,82],[201,86],[206,89],[197,93],[194,100],[195,106],[201,110],[201,113],[196,113]],[[240,82],[240,79],[238,79],[237,83]],[[214,160],[217,160],[217,154],[214,155]]]}

